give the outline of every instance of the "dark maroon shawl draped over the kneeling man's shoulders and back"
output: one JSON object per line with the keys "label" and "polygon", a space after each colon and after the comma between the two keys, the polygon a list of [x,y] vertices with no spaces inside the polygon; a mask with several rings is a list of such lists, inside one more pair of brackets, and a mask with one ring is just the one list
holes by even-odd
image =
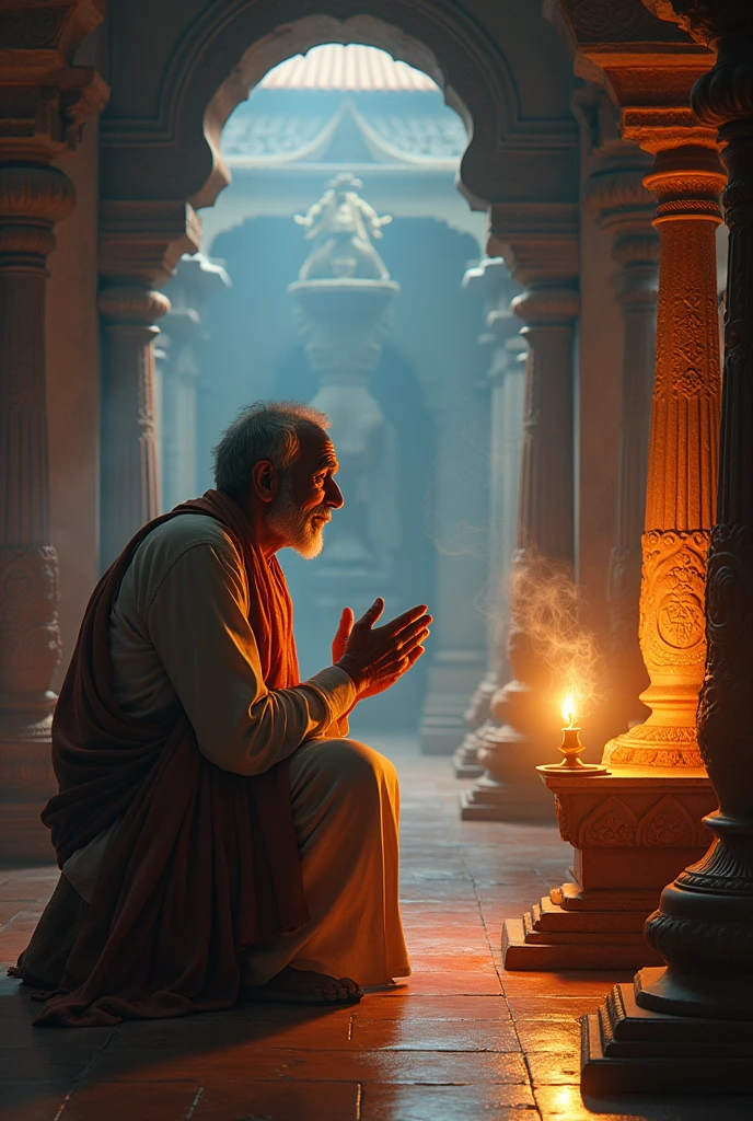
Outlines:
{"label": "dark maroon shawl draped over the kneeling man's shoulders and back", "polygon": [[[62,867],[118,818],[89,916],[37,1023],[108,1025],[226,1008],[239,952],[308,919],[287,762],[245,778],[201,754],[177,723],[128,716],[112,693],[110,611],[134,549],[182,513],[215,518],[243,557],[250,623],[270,689],[298,684],[285,576],[216,491],[145,526],[89,602],[53,723],[59,794],[43,822]],[[201,590],[197,590],[201,594]]]}

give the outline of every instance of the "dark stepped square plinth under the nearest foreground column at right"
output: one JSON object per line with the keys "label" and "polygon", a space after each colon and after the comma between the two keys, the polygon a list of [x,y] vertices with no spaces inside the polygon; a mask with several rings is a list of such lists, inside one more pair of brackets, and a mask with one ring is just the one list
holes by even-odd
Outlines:
{"label": "dark stepped square plinth under the nearest foreground column at right", "polygon": [[753,1013],[716,1020],[641,1008],[640,993],[663,972],[641,970],[632,983],[615,985],[598,1012],[583,1017],[582,1093],[753,1092]]}

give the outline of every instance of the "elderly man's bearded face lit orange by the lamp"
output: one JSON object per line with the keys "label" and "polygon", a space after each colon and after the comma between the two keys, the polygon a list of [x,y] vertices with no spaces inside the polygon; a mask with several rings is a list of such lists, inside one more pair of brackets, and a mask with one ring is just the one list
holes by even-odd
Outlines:
{"label": "elderly man's bearded face lit orange by the lamp", "polygon": [[323,531],[332,511],[343,504],[335,482],[335,447],[326,432],[312,428],[300,437],[300,452],[280,483],[269,524],[285,545],[312,559],[322,552]]}

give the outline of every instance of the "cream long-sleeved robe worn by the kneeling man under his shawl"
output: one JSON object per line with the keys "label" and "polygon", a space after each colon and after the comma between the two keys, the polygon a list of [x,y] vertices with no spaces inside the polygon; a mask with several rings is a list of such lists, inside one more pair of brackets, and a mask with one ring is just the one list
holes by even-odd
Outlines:
{"label": "cream long-sleeved robe worn by the kneeling man under his shawl", "polygon": [[[266,688],[248,595],[241,557],[217,521],[187,513],[158,526],[137,549],[112,608],[115,697],[139,720],[162,720],[183,706],[199,751],[223,770],[259,775],[290,758],[312,917],[296,934],[245,953],[244,983],[263,984],[289,964],[363,985],[407,976],[394,768],[346,738],[355,688],[342,669],[329,666],[295,688]],[[117,828],[63,868],[86,900]]]}

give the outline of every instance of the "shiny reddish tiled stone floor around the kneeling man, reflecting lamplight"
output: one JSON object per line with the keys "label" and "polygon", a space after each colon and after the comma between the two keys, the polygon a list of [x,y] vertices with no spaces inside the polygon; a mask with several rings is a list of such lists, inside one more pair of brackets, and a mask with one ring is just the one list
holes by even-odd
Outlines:
{"label": "shiny reddish tiled stone floor around the kneeling man, reflecting lamplight", "polygon": [[[0,979],[2,1121],[476,1121],[599,1115],[743,1121],[753,1099],[584,1103],[577,1017],[626,974],[504,973],[502,920],[561,883],[554,825],[458,821],[449,760],[372,738],[402,779],[402,898],[413,976],[356,1008],[239,1007],[82,1030],[31,1029]],[[0,962],[24,947],[53,868],[0,871]],[[3,969],[4,974],[4,969]]]}

